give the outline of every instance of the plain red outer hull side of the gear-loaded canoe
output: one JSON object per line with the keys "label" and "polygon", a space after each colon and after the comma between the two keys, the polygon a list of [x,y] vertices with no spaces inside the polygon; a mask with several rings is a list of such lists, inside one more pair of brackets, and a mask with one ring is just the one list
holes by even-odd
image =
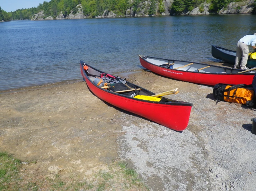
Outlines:
{"label": "plain red outer hull side of the gear-loaded canoe", "polygon": [[82,68],[82,65],[80,68],[81,74],[85,79],[88,88],[101,100],[104,100],[115,107],[140,115],[170,129],[176,131],[183,131],[186,129],[192,108],[191,103],[171,105],[161,102],[153,103],[140,101],[126,96],[120,96],[116,93],[109,92],[96,86],[91,80],[89,80]]}

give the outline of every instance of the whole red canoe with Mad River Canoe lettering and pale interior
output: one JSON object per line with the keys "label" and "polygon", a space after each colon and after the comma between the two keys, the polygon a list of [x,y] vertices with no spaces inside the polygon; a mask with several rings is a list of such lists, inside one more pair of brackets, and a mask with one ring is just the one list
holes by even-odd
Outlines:
{"label": "whole red canoe with Mad River Canoe lettering and pale interior", "polygon": [[[139,55],[139,58],[140,63],[144,68],[162,76],[210,86],[214,86],[217,83],[234,85],[243,83],[249,85],[253,82],[255,74],[254,71],[238,74],[238,72],[244,70],[214,66],[211,64],[162,59],[141,55]],[[169,68],[169,66],[172,66],[173,69]]]}

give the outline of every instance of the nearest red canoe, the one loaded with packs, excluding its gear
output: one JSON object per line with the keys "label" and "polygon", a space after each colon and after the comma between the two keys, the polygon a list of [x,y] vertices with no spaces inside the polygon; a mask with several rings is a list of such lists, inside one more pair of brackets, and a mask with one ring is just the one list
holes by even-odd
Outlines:
{"label": "nearest red canoe, the one loaded with packs, excluding its gear", "polygon": [[[87,66],[88,69],[84,69],[83,66]],[[99,77],[102,71],[92,68],[83,61],[80,61],[80,69],[83,78],[86,81],[88,88],[98,98],[118,107],[123,110],[135,113],[158,124],[176,131],[183,131],[186,129],[189,121],[189,115],[192,108],[192,103],[171,100],[168,98],[162,98],[160,102],[147,101],[136,99],[133,97],[125,96],[121,93],[115,93],[109,90],[100,88],[94,83],[95,77]],[[148,91],[142,87],[139,87],[130,82],[126,82],[127,85],[140,88],[139,95],[151,96],[155,93]]]}

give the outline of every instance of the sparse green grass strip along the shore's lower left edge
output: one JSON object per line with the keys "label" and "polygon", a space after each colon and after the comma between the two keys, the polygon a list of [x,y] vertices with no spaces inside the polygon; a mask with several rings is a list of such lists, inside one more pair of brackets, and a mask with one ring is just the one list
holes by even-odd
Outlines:
{"label": "sparse green grass strip along the shore's lower left edge", "polygon": [[[27,165],[35,165],[36,161]],[[103,166],[90,175],[81,174],[55,174],[52,178],[46,175],[24,173],[23,164],[14,159],[6,152],[0,152],[0,191],[20,190],[51,190],[51,191],[126,191],[126,190],[149,190],[144,182],[138,177],[134,169],[127,168],[126,163],[115,161],[110,165]]]}

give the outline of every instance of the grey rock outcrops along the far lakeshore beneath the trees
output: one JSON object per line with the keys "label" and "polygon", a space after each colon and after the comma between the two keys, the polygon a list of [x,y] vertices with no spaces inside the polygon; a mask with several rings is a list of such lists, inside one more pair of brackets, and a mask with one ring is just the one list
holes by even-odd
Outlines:
{"label": "grey rock outcrops along the far lakeshore beneath the trees", "polygon": [[[253,11],[253,3],[254,0],[247,0],[242,2],[231,2],[228,4],[226,8],[222,8],[218,14],[245,14],[245,13],[252,13]],[[170,9],[171,5],[173,4],[173,0],[165,0],[164,8],[165,11],[161,14],[152,15],[152,16],[175,16],[176,14],[173,13]],[[185,10],[181,15],[208,15],[210,3],[206,3],[206,1],[200,4],[199,7],[194,8],[192,11]],[[90,18],[89,16],[85,16],[83,14],[83,9],[81,4],[77,5],[78,11],[77,13],[73,14],[72,12],[68,16],[64,16],[62,12],[56,17],[53,18],[52,16],[48,16],[45,18],[44,11],[40,11],[39,13],[35,14],[31,20],[61,20],[61,19],[85,19]],[[117,15],[112,11],[105,10],[101,16],[95,18],[117,18],[117,17],[148,17],[147,9],[150,8],[150,1],[141,2],[136,10],[134,7],[126,10],[125,16]],[[158,5],[156,6],[158,10]],[[138,11],[139,10],[139,11]]]}

